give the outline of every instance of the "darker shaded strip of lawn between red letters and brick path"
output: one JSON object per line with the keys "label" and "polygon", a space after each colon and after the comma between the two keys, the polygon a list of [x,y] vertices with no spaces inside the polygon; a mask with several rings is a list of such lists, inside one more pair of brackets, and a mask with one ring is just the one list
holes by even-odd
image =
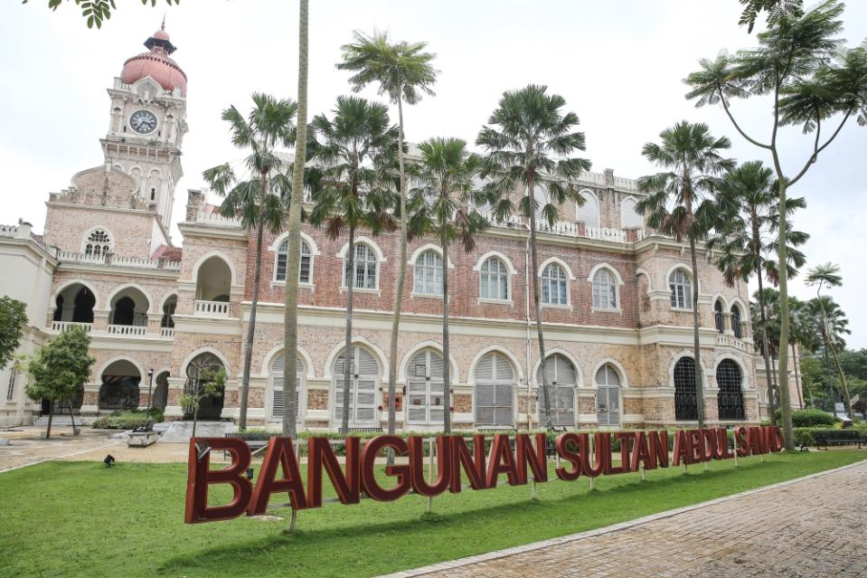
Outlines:
{"label": "darker shaded strip of lawn between red letters and brick path", "polygon": [[[572,496],[547,499],[542,497],[534,501],[530,497],[522,497],[508,504],[475,507],[457,513],[437,513],[435,516],[422,515],[419,501],[419,517],[391,522],[382,521],[382,517],[378,517],[369,523],[350,527],[306,530],[302,511],[298,517],[299,530],[293,534],[281,532],[246,542],[232,540],[229,545],[218,545],[168,559],[159,566],[159,572],[208,576],[238,573],[269,575],[269,571],[293,576],[349,576],[395,572],[450,558],[482,554],[569,535],[699,503],[740,491],[740,484],[735,484],[735,488],[731,489],[716,486],[710,493],[693,494],[692,499],[679,502],[676,498],[683,497],[688,486],[695,486],[702,481],[722,482],[732,475],[740,476],[753,469],[760,469],[767,474],[771,469],[785,469],[787,464],[766,461],[763,464],[741,464],[738,469],[706,472],[702,472],[701,468],[697,466],[691,469],[690,475],[646,481],[634,476],[635,479],[627,483],[611,488],[598,488],[593,492],[588,492],[584,486]],[[648,475],[652,476],[650,473]],[[569,483],[580,483],[581,480],[586,482],[586,479],[581,478],[577,482]],[[632,495],[635,495],[635,498],[628,499]],[[651,499],[654,497],[659,497],[659,500]],[[665,497],[671,498],[666,501]],[[283,512],[288,514],[288,510]],[[287,526],[288,522],[282,527]],[[526,531],[528,528],[533,531]],[[408,550],[413,553],[413,557],[405,560],[403,553]],[[285,565],[275,566],[276,560]]]}

